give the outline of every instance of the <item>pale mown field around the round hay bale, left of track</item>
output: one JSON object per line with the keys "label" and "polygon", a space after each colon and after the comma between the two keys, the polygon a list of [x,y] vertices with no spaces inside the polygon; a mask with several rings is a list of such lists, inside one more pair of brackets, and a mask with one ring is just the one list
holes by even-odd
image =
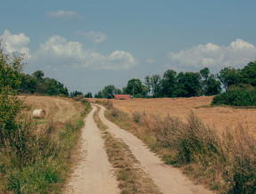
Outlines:
{"label": "pale mown field around the round hay bale, left of track", "polygon": [[32,106],[31,115],[34,109],[45,109],[46,117],[40,119],[41,122],[49,119],[60,122],[77,119],[84,109],[80,101],[61,97],[29,95],[25,98],[25,103]]}

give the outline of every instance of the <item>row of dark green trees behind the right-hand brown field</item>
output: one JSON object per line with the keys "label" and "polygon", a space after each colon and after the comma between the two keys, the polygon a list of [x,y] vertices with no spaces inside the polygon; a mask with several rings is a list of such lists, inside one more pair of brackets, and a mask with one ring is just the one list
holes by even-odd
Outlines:
{"label": "row of dark green trees behind the right-hand brown field", "polygon": [[241,85],[256,86],[256,61],[247,64],[244,69],[224,68],[218,74],[211,74],[208,68],[199,72],[176,72],[167,70],[163,76],[146,76],[130,79],[122,90],[114,85],[107,85],[95,94],[95,98],[113,98],[114,94],[130,94],[136,98],[192,97],[216,95]]}

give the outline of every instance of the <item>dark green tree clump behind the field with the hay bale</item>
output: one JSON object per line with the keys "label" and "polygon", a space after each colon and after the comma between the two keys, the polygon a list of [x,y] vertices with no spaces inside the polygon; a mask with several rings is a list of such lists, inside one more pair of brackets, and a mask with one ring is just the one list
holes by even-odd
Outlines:
{"label": "dark green tree clump behind the field with the hay bale", "polygon": [[32,75],[21,75],[20,93],[69,96],[67,87],[54,78],[45,77],[42,70],[37,70]]}

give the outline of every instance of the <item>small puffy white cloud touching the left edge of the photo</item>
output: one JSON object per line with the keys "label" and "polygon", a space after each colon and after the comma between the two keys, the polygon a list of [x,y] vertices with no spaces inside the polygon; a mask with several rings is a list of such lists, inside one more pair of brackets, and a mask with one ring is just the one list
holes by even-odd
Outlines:
{"label": "small puffy white cloud touching the left edge of the photo", "polygon": [[31,57],[29,47],[27,47],[30,40],[23,33],[12,35],[8,29],[5,29],[0,39],[3,40],[2,44],[7,53],[24,53],[26,59]]}

